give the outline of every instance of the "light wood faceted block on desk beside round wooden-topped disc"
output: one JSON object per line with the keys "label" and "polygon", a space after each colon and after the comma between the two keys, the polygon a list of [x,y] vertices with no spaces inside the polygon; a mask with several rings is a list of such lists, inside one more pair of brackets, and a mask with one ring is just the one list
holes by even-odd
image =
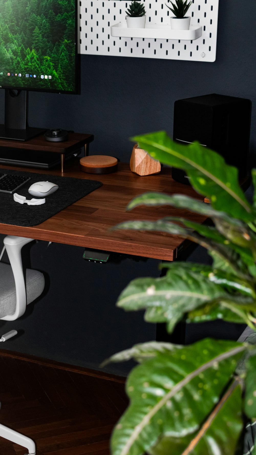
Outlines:
{"label": "light wood faceted block on desk beside round wooden-topped disc", "polygon": [[130,169],[138,175],[158,174],[161,171],[161,165],[158,160],[148,155],[142,148],[138,148],[136,144],[133,147],[132,156],[130,159]]}

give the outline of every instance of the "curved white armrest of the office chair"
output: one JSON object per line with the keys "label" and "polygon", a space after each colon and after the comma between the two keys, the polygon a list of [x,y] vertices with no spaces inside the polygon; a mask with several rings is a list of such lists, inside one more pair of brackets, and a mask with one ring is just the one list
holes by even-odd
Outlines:
{"label": "curved white armrest of the office chair", "polygon": [[15,312],[1,318],[5,321],[14,321],[15,319],[20,318],[20,316],[22,316],[22,314],[26,311],[26,284],[22,267],[21,248],[26,245],[26,243],[32,242],[32,240],[33,238],[16,237],[11,235],[7,235],[4,238],[4,245],[10,260],[16,290]]}

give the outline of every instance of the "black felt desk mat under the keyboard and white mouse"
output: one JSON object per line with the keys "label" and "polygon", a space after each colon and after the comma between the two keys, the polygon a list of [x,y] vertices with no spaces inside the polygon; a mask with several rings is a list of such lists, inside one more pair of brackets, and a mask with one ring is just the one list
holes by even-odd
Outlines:
{"label": "black felt desk mat under the keyboard and white mouse", "polygon": [[12,171],[0,169],[1,173],[16,174],[31,177],[31,180],[15,192],[26,199],[33,199],[28,192],[32,183],[52,182],[59,186],[59,189],[46,196],[46,202],[42,205],[20,204],[13,200],[13,194],[0,192],[0,223],[14,224],[15,226],[36,226],[51,218],[56,213],[78,201],[82,197],[102,186],[96,180],[87,180],[73,177],[57,177],[35,172]]}

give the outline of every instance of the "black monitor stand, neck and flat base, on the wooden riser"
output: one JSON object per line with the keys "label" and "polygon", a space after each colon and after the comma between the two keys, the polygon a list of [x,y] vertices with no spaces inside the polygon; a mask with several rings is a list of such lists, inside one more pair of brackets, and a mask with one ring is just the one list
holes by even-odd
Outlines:
{"label": "black monitor stand, neck and flat base, on the wooden riser", "polygon": [[44,131],[28,126],[28,91],[5,89],[5,124],[0,125],[0,138],[27,141]]}

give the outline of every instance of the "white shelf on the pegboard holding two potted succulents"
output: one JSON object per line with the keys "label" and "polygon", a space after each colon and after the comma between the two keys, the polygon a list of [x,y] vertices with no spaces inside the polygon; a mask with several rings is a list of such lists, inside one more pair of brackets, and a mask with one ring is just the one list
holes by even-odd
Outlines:
{"label": "white shelf on the pegboard holding two potted succulents", "polygon": [[118,22],[111,26],[111,36],[191,41],[202,36],[202,27],[191,25],[189,30],[172,30],[168,24],[146,24],[145,28],[128,28],[126,22]]}

